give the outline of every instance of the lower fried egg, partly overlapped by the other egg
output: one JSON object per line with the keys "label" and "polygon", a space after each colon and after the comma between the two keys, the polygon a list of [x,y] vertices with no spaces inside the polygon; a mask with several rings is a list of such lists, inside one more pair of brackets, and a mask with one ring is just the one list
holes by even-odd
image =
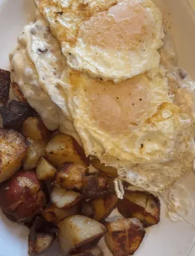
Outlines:
{"label": "lower fried egg, partly overlapped by the other egg", "polygon": [[115,84],[70,69],[64,89],[85,153],[123,180],[160,192],[189,170],[194,122],[169,98],[163,72]]}

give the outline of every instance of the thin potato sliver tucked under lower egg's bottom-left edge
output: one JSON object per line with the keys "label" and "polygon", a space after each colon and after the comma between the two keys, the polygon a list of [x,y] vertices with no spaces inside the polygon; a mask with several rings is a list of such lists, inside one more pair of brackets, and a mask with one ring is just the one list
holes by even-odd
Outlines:
{"label": "thin potato sliver tucked under lower egg's bottom-left edge", "polygon": [[117,169],[111,166],[105,166],[104,163],[100,163],[99,159],[93,155],[90,155],[90,162],[97,170],[104,172],[104,174],[117,178]]}

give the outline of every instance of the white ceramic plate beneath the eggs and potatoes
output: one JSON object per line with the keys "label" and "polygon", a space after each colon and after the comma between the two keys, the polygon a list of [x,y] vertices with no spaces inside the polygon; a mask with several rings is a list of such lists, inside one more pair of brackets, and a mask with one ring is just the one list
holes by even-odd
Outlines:
{"label": "white ceramic plate beneath the eggs and potatoes", "polygon": [[[164,13],[167,26],[176,45],[179,65],[195,79],[195,17],[187,0],[154,0]],[[194,0],[190,0],[191,2]],[[0,67],[9,68],[8,54],[15,47],[17,36],[32,18],[33,0],[0,0]],[[170,13],[170,15],[169,15]],[[183,179],[195,200],[195,176]],[[147,234],[135,256],[195,256],[195,209],[186,221],[173,223],[166,216],[162,202],[161,222],[147,229]],[[0,212],[0,256],[27,256],[28,229],[10,222]],[[109,256],[105,248],[104,255]],[[57,243],[44,256],[59,256]]]}

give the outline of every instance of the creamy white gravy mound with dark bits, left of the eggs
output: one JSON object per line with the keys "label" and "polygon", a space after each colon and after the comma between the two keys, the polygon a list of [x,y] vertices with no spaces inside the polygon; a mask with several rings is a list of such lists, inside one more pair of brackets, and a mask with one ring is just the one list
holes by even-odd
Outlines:
{"label": "creamy white gravy mound with dark bits, left of the eggs", "polygon": [[21,32],[10,62],[12,82],[18,84],[45,126],[52,131],[59,128],[78,138],[60,85],[60,77],[67,67],[65,57],[49,24],[38,11],[35,22],[28,23]]}

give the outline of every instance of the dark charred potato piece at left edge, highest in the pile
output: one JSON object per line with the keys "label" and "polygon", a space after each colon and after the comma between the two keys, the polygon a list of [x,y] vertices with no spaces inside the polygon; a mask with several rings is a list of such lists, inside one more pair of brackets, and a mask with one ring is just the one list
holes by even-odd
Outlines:
{"label": "dark charred potato piece at left edge, highest in the pile", "polygon": [[10,72],[0,69],[0,102],[6,103],[9,99]]}

